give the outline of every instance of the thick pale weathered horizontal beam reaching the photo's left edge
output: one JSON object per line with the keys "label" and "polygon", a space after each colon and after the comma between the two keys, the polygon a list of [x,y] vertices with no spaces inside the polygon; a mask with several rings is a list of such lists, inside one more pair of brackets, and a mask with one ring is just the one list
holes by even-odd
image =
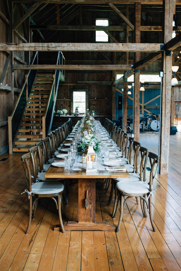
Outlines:
{"label": "thick pale weathered horizontal beam reaching the photo's left edge", "polygon": [[160,43],[0,43],[0,51],[157,52]]}

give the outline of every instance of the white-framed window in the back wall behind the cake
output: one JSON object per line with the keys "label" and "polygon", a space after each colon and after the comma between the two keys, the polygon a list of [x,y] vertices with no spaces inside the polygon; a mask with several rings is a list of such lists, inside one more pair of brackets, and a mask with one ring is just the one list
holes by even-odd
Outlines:
{"label": "white-framed window in the back wall behind the cake", "polygon": [[88,108],[88,89],[71,90],[71,113],[78,107],[80,113],[85,113]]}

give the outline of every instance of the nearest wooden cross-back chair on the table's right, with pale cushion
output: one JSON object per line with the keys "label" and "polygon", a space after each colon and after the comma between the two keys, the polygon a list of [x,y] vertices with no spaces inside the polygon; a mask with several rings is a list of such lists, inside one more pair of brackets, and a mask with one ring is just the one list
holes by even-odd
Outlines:
{"label": "nearest wooden cross-back chair on the table's right, with pale cushion", "polygon": [[[149,208],[149,215],[150,215],[150,221],[153,228],[153,231],[155,230],[153,217],[152,217],[152,208],[151,208],[151,196],[153,194],[153,171],[155,164],[158,164],[159,156],[157,154],[148,153],[148,157],[150,159],[151,164],[151,171],[150,171],[150,181],[149,183],[146,183],[145,180],[143,181],[130,181],[130,182],[118,182],[117,183],[117,192],[120,196],[120,217],[119,217],[119,223],[116,232],[119,232],[120,224],[122,221],[123,216],[123,208],[125,206],[126,200],[131,197],[139,197],[143,200],[144,206],[146,204],[147,208]],[[126,199],[124,197],[126,196]],[[146,214],[146,208],[142,209],[143,214],[145,217],[147,217]]]}

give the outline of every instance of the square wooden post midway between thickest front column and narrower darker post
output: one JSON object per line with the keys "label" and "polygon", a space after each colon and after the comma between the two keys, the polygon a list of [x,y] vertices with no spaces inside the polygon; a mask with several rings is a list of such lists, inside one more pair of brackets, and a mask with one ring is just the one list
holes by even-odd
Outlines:
{"label": "square wooden post midway between thickest front column and narrower darker post", "polygon": [[[141,3],[137,2],[135,3],[135,42],[140,43],[141,38],[141,31],[140,31],[140,25],[141,25]],[[140,52],[135,53],[135,62],[139,61]],[[139,142],[139,75],[140,71],[135,69],[134,72],[134,138],[136,141]]]}

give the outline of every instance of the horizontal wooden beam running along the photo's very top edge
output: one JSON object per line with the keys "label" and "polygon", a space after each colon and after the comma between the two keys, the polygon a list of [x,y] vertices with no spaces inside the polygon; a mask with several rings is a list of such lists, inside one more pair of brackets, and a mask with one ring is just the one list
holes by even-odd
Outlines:
{"label": "horizontal wooden beam running along the photo's very top edge", "polygon": [[[32,3],[32,0],[13,0],[14,3]],[[161,0],[33,0],[36,3],[52,3],[52,4],[134,4],[141,2],[144,5],[163,5]],[[181,5],[181,1],[177,0],[176,5]]]}

